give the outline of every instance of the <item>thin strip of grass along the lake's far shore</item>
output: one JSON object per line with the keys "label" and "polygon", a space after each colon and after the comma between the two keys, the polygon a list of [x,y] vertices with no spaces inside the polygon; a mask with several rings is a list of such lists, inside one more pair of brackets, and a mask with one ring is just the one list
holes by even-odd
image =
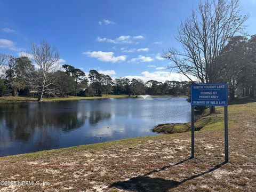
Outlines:
{"label": "thin strip of grass along the lake's far shore", "polygon": [[[75,100],[87,100],[87,99],[109,99],[109,98],[135,98],[136,95],[116,95],[116,94],[104,94],[102,97],[79,97],[79,96],[68,96],[68,97],[55,97],[55,98],[43,98],[42,102],[55,102],[55,101],[75,101]],[[187,97],[186,95],[150,95],[150,97]],[[19,103],[19,102],[37,102],[37,98],[33,97],[13,97],[3,96],[0,97],[0,104],[6,103]]]}

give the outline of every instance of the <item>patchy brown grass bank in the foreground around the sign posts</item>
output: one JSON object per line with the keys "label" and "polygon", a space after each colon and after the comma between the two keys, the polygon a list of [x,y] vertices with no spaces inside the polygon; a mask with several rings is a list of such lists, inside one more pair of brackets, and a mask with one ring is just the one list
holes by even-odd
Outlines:
{"label": "patchy brown grass bank in the foreground around the sign posts", "polygon": [[228,107],[229,163],[224,164],[223,108],[195,133],[132,138],[0,158],[0,191],[255,191],[256,99]]}

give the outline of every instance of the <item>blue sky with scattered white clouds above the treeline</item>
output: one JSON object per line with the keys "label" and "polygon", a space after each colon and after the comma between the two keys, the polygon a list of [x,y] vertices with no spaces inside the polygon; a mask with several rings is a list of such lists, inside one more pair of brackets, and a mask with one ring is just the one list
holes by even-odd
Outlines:
{"label": "blue sky with scattered white clouds above the treeline", "polygon": [[[196,0],[0,0],[0,53],[16,57],[43,39],[57,47],[60,63],[113,78],[185,81],[166,70],[161,55],[175,40]],[[250,13],[246,31],[256,34],[256,0],[241,1]]]}

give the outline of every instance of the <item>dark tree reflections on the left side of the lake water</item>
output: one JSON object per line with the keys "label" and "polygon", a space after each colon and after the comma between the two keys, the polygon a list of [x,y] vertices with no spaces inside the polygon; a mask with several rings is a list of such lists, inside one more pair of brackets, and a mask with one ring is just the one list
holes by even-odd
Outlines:
{"label": "dark tree reflections on the left side of the lake water", "polygon": [[[35,133],[38,134],[35,145],[40,149],[54,145],[50,137],[54,131],[69,132],[78,129],[89,118],[90,125],[95,125],[102,119],[111,117],[103,111],[86,111],[79,102],[61,103],[19,103],[0,105],[0,125],[8,132],[4,140],[28,141]],[[86,115],[87,114],[87,115]],[[3,141],[4,142],[4,141]],[[56,143],[55,143],[56,144]]]}

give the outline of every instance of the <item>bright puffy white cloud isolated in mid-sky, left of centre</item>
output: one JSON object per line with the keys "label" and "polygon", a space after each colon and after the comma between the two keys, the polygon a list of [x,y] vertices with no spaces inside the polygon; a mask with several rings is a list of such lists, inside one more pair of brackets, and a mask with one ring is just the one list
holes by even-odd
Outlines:
{"label": "bright puffy white cloud isolated in mid-sky, left of centre", "polygon": [[103,52],[103,51],[87,51],[83,52],[83,54],[88,55],[92,58],[97,58],[100,61],[104,62],[121,62],[125,61],[127,56],[126,55],[120,55],[115,57],[114,52]]}

